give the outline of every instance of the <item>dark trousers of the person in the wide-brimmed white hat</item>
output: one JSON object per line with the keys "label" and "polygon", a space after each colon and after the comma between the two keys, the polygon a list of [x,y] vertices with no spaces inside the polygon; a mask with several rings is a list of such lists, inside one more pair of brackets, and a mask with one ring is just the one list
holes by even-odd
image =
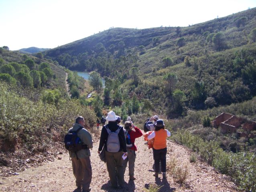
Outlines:
{"label": "dark trousers of the person in the wide-brimmed white hat", "polygon": [[109,175],[112,187],[117,187],[116,176],[118,178],[119,186],[124,186],[124,172],[123,172],[123,166],[122,166],[123,152],[120,151],[116,153],[111,153],[106,151],[105,153],[106,153],[106,164],[108,168],[108,175]]}

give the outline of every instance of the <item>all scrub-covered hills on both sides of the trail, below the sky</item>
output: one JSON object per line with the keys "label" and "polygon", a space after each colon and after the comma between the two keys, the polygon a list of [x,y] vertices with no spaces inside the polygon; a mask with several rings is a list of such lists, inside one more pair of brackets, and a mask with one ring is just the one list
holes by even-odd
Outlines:
{"label": "all scrub-covered hills on both sides of the trail, below the sky", "polygon": [[256,121],[256,8],[188,27],[110,28],[32,55],[4,46],[0,80],[2,166],[62,142],[77,115],[93,132],[110,110],[141,129],[157,114],[191,156],[256,191],[256,128],[246,137],[242,124],[223,133],[211,123],[223,112]]}

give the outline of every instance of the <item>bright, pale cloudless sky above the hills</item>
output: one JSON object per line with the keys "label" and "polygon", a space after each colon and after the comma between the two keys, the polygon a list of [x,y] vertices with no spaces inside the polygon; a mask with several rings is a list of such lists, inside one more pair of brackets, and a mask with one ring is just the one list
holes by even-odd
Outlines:
{"label": "bright, pale cloudless sky above the hills", "polygon": [[0,0],[0,47],[55,48],[111,27],[189,26],[256,0]]}

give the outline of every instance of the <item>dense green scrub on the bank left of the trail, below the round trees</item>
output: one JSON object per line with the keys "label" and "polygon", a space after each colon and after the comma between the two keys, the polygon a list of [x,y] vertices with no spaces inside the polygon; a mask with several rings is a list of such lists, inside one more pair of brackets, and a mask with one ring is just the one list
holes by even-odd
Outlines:
{"label": "dense green scrub on the bank left of the trail, below the round trees", "polygon": [[63,140],[77,116],[85,117],[87,129],[94,126],[95,113],[79,100],[65,99],[59,90],[30,90],[31,98],[42,95],[42,100],[32,101],[24,96],[26,92],[0,81],[0,141],[9,144],[1,151],[14,151],[18,143],[33,152],[46,150],[51,142]]}

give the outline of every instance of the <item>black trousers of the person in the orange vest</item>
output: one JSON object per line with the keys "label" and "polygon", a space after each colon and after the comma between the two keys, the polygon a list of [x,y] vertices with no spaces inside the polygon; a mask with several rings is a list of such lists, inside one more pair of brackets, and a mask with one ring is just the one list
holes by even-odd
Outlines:
{"label": "black trousers of the person in the orange vest", "polygon": [[166,154],[167,148],[163,149],[154,149],[153,148],[153,157],[154,157],[154,165],[155,165],[155,172],[159,172],[159,166],[161,162],[161,171],[163,173],[166,172]]}

